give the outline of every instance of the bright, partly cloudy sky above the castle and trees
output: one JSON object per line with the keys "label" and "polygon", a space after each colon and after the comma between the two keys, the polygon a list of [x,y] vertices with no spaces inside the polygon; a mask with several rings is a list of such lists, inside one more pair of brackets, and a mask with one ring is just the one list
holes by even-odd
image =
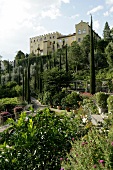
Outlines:
{"label": "bright, partly cloudy sky above the castle and trees", "polygon": [[103,37],[113,27],[113,0],[0,0],[0,56],[13,61],[17,52],[30,53],[30,38],[46,33],[74,33],[81,20]]}

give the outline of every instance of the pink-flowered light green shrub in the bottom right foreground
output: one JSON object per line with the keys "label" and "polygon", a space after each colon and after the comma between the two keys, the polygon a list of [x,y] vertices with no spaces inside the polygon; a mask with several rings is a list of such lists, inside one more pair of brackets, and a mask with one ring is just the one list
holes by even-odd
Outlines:
{"label": "pink-flowered light green shrub in the bottom right foreground", "polygon": [[113,169],[113,128],[108,136],[92,128],[88,135],[72,144],[68,161],[62,163],[65,170],[112,170]]}

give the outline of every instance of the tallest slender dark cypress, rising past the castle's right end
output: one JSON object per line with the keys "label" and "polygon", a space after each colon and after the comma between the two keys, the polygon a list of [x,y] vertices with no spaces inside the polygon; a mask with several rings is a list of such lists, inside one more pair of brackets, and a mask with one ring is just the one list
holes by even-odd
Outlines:
{"label": "tallest slender dark cypress, rising past the castle's right end", "polygon": [[90,93],[95,94],[95,61],[94,61],[94,42],[93,42],[93,22],[91,15],[91,36],[90,36]]}

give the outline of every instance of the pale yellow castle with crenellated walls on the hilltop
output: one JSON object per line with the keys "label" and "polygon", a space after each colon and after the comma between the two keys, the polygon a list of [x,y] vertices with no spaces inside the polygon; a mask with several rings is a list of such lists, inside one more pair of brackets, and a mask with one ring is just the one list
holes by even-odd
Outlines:
{"label": "pale yellow castle with crenellated walls on the hilltop", "polygon": [[[47,55],[51,52],[57,51],[57,49],[62,48],[63,41],[68,46],[71,46],[73,41],[81,43],[86,35],[90,35],[90,26],[88,22],[83,22],[75,25],[75,33],[62,35],[59,32],[48,33],[36,37],[30,38],[30,53],[36,55]],[[101,37],[93,31],[94,37],[101,39]]]}

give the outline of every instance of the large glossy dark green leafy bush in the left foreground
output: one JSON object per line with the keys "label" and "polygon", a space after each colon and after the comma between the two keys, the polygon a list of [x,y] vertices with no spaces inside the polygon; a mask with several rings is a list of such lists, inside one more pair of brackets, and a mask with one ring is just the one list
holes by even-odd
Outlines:
{"label": "large glossy dark green leafy bush in the left foreground", "polygon": [[1,169],[59,170],[61,159],[71,148],[72,137],[76,139],[80,132],[79,124],[79,119],[57,116],[49,109],[27,119],[22,113],[0,134]]}

